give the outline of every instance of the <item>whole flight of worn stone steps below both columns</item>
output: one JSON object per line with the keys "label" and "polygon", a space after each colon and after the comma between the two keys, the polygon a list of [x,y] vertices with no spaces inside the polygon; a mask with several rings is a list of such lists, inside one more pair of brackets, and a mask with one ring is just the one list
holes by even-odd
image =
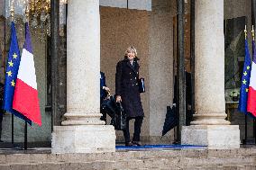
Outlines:
{"label": "whole flight of worn stone steps below both columns", "polygon": [[102,154],[1,154],[0,170],[224,169],[255,170],[256,148],[125,150]]}

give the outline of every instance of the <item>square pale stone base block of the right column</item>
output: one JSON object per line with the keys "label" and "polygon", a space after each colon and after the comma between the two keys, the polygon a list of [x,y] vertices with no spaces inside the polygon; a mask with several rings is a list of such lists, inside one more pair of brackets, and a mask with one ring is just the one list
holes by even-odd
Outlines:
{"label": "square pale stone base block of the right column", "polygon": [[240,148],[238,125],[183,126],[181,144],[207,146],[209,149]]}

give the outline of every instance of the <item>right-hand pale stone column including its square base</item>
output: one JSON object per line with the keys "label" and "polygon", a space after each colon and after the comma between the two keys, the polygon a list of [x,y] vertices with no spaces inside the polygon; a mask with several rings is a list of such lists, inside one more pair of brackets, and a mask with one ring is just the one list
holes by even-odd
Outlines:
{"label": "right-hand pale stone column including its square base", "polygon": [[224,0],[195,3],[196,113],[182,127],[181,143],[239,148],[239,126],[224,120]]}

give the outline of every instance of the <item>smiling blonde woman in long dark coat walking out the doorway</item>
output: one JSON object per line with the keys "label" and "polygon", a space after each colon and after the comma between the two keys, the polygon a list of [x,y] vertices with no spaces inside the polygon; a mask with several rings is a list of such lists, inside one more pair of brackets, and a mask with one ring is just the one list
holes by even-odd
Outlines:
{"label": "smiling blonde woman in long dark coat walking out the doorway", "polygon": [[[123,130],[125,146],[141,146],[141,128],[144,117],[139,92],[139,58],[136,49],[126,49],[123,60],[116,65],[115,94],[116,102],[122,102],[126,114],[126,129]],[[135,119],[133,140],[130,139],[129,121]]]}

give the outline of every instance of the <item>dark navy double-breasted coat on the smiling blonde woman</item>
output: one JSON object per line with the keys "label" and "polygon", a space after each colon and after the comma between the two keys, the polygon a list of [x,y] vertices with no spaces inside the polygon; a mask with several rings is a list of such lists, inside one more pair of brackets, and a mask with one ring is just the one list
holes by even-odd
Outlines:
{"label": "dark navy double-breasted coat on the smiling blonde woman", "polygon": [[121,95],[123,110],[127,117],[144,116],[142,101],[139,92],[138,58],[134,58],[133,66],[129,59],[124,57],[116,65],[115,73],[115,94]]}

